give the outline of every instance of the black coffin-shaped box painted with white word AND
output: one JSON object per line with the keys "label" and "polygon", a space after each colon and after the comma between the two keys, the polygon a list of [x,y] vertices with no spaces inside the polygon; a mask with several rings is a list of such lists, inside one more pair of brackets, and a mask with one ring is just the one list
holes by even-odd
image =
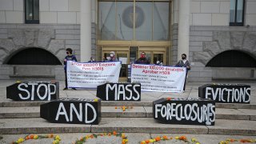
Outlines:
{"label": "black coffin-shaped box painted with white word AND", "polygon": [[98,99],[61,98],[40,106],[40,117],[53,123],[98,125],[100,114]]}

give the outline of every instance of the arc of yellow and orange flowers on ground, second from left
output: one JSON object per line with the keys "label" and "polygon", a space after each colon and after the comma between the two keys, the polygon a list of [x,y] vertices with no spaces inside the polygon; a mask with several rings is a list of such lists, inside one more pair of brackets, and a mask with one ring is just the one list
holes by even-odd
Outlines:
{"label": "arc of yellow and orange flowers on ground, second from left", "polygon": [[126,144],[128,142],[128,139],[125,134],[123,133],[117,133],[116,131],[113,131],[112,133],[102,133],[102,134],[88,134],[85,137],[82,137],[78,139],[77,141],[73,142],[74,144],[82,144],[86,142],[89,138],[98,138],[98,137],[106,137],[106,136],[116,136],[122,138],[122,144]]}

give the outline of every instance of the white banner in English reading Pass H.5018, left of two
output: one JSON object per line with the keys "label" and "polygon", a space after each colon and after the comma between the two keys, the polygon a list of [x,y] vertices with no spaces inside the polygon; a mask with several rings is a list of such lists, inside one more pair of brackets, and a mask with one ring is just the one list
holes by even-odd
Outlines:
{"label": "white banner in English reading Pass H.5018, left of two", "polygon": [[67,86],[97,88],[106,82],[118,82],[121,62],[66,63]]}

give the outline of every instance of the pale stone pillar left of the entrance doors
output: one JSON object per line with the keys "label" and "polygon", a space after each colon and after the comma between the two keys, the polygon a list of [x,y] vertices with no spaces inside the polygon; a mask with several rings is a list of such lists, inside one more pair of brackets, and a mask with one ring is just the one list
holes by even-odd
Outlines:
{"label": "pale stone pillar left of the entrance doors", "polygon": [[91,55],[91,2],[90,0],[81,0],[80,4],[81,62],[87,62],[90,60]]}

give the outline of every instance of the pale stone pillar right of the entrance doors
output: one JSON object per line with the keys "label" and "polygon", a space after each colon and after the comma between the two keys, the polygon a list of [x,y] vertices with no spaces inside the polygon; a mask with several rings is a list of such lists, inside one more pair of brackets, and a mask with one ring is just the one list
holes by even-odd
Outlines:
{"label": "pale stone pillar right of the entrance doors", "polygon": [[182,54],[190,58],[190,0],[179,0],[178,14],[178,60]]}

